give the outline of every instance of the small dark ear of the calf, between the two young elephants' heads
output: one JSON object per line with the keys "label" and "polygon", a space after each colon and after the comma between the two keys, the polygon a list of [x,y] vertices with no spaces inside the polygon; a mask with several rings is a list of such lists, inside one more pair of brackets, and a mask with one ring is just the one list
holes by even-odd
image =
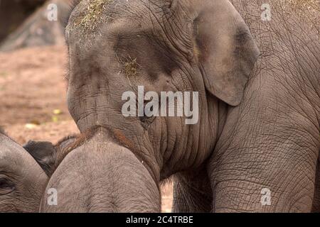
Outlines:
{"label": "small dark ear of the calf, between the two young elephants' heads", "polygon": [[55,165],[55,147],[50,142],[30,140],[23,148],[38,162],[46,175],[50,177]]}

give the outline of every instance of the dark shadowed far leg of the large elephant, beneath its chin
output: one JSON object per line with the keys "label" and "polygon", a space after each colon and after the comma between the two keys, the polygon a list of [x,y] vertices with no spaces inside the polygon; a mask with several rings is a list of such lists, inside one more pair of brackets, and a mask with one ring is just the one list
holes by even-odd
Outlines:
{"label": "dark shadowed far leg of the large elephant, beneath its chin", "polygon": [[174,175],[174,213],[204,213],[212,210],[212,190],[205,167]]}

